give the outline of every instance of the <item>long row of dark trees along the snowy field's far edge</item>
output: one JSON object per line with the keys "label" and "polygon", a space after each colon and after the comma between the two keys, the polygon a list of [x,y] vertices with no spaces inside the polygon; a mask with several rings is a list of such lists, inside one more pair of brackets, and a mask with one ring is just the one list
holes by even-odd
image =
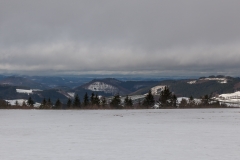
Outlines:
{"label": "long row of dark trees along the snowy field's far edge", "polygon": [[[156,105],[154,107],[154,105]],[[143,99],[139,99],[138,103],[133,103],[130,96],[126,96],[124,101],[121,101],[121,96],[116,94],[110,99],[98,96],[97,93],[92,93],[90,96],[85,93],[81,101],[78,94],[73,99],[68,99],[63,103],[57,99],[55,103],[50,98],[44,98],[41,102],[39,109],[150,109],[150,108],[207,108],[207,107],[227,107],[220,105],[219,102],[211,101],[210,96],[204,95],[200,101],[195,101],[192,96],[188,99],[182,99],[181,102],[177,101],[177,96],[170,91],[166,86],[160,92],[160,96],[156,97],[152,94],[151,90],[145,95]],[[16,101],[15,106],[9,105],[5,101],[0,101],[0,108],[34,108],[34,101],[31,97],[28,98],[27,103],[23,102],[22,106]]]}

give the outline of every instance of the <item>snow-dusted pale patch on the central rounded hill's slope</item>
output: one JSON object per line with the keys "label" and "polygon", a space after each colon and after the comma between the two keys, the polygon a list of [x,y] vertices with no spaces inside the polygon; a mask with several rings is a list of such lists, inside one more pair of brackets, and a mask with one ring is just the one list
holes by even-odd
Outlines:
{"label": "snow-dusted pale patch on the central rounded hill's slope", "polygon": [[111,94],[116,94],[119,91],[118,88],[104,82],[93,82],[85,87],[85,89],[89,89],[91,91],[104,91],[105,93]]}

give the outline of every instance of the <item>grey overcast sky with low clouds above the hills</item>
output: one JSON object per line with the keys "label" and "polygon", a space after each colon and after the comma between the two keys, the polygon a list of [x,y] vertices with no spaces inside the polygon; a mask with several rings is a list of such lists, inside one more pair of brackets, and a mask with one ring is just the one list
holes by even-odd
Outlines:
{"label": "grey overcast sky with low clouds above the hills", "polygon": [[240,75],[239,0],[0,0],[0,73]]}

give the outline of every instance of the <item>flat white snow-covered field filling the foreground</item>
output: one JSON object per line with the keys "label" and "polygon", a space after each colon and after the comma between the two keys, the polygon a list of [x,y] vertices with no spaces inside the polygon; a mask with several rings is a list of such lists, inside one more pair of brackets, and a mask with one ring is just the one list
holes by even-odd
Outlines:
{"label": "flat white snow-covered field filling the foreground", "polygon": [[239,160],[239,109],[0,110],[1,160]]}

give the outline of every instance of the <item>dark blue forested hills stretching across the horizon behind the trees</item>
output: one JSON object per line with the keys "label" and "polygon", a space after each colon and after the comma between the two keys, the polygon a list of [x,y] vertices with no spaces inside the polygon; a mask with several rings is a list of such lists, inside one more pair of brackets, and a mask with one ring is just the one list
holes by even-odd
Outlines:
{"label": "dark blue forested hills stretching across the horizon behind the trees", "polygon": [[[43,98],[51,98],[55,102],[58,98],[66,103],[68,98],[78,94],[83,98],[87,92],[94,92],[102,96],[120,95],[143,95],[150,89],[154,94],[159,94],[164,86],[177,96],[199,98],[203,95],[232,93],[240,89],[240,78],[225,76],[201,77],[199,79],[179,80],[148,80],[131,81],[114,78],[93,79],[77,77],[20,77],[0,76],[0,99],[28,99],[31,96],[35,101],[41,102]],[[17,89],[29,90],[17,92]]]}

